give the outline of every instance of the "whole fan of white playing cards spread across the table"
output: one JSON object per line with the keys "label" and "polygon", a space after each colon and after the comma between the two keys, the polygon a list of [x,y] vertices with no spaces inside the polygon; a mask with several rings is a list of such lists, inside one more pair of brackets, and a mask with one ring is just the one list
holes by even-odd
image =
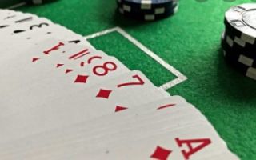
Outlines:
{"label": "whole fan of white playing cards spread across the table", "polygon": [[0,10],[0,158],[236,160],[195,106],[64,26]]}

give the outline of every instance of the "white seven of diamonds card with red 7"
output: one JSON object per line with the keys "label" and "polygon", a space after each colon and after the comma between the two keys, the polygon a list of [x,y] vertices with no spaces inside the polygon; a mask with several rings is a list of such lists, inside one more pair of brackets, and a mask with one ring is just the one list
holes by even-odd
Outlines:
{"label": "white seven of diamonds card with red 7", "polygon": [[[22,106],[18,105],[21,108],[28,108],[27,106],[32,108],[1,119],[0,126],[2,130],[5,130],[5,132],[0,133],[2,141],[69,126],[106,114],[114,114],[146,102],[161,99],[163,95],[142,73],[133,71],[110,82],[94,86],[90,90],[81,90],[49,102],[38,102],[38,99],[35,100],[34,98],[30,98],[30,101]],[[16,101],[17,99],[15,99]],[[22,102],[23,100],[19,101]],[[31,103],[37,104],[37,106],[31,106]],[[12,107],[8,103],[4,106],[6,106],[4,109],[7,111]],[[12,108],[10,112],[13,110]],[[25,128],[26,130],[24,130]]]}

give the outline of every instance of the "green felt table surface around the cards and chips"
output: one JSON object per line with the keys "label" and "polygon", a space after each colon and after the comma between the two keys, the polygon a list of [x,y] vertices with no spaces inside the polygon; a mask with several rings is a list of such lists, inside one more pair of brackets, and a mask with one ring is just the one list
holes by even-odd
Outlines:
{"label": "green felt table surface around the cards and chips", "polygon": [[[256,82],[228,66],[220,38],[225,11],[246,0],[181,0],[178,14],[156,22],[138,22],[116,13],[115,0],[60,0],[17,10],[50,18],[78,34],[116,26],[148,47],[188,78],[170,88],[186,98],[213,124],[241,159],[256,159]],[[98,49],[116,56],[131,70],[142,70],[156,86],[176,78],[117,32],[92,38]]]}

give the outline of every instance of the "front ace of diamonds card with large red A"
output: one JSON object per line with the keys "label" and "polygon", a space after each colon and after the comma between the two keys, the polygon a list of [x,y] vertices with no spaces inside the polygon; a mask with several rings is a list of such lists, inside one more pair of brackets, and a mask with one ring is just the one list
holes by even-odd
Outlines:
{"label": "front ace of diamonds card with large red A", "polygon": [[[118,140],[116,142],[110,141],[110,138],[106,137],[97,140],[91,138],[90,142],[82,142],[82,138],[80,138],[75,141],[75,144],[68,144],[72,148],[67,147],[68,150],[62,150],[62,153],[65,154],[59,152],[59,154],[50,154],[50,157],[55,156],[55,159],[81,159],[82,157],[93,159],[102,159],[103,157],[105,159],[208,159],[218,157],[218,154],[223,154],[224,151],[225,154],[230,154],[218,134],[205,122],[199,122],[198,125],[183,124],[182,126],[184,127],[177,130],[172,127],[173,131],[170,130],[170,132],[168,132],[167,126],[162,126],[164,130],[162,132],[159,130],[158,133],[154,134],[151,134],[151,130],[146,131],[145,128],[143,131],[137,129],[138,133],[136,131],[127,133],[121,130],[118,134],[126,135],[126,139],[120,140],[118,134],[112,134],[112,137]],[[158,125],[158,128],[161,129],[161,126]],[[151,136],[146,137],[146,133],[150,133]],[[141,138],[137,138],[135,136],[137,134],[141,135]],[[81,147],[79,151],[74,147],[78,146],[78,143]],[[45,148],[45,150],[48,149]],[[61,148],[58,147],[57,150],[60,151]],[[92,151],[90,152],[90,150]],[[47,154],[49,155],[49,152],[46,152],[45,155]]]}

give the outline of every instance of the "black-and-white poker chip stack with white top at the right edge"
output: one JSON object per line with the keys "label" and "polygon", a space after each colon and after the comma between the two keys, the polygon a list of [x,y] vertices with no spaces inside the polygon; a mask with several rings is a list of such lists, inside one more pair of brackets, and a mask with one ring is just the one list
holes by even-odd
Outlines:
{"label": "black-and-white poker chip stack with white top at the right edge", "polygon": [[232,6],[226,11],[222,49],[226,61],[256,80],[256,3]]}

